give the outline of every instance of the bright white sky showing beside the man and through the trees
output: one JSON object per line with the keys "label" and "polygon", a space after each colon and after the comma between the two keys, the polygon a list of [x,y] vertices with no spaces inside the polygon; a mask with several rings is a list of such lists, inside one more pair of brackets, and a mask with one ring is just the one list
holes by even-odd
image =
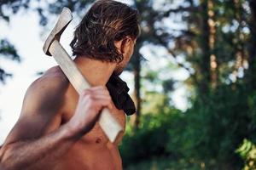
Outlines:
{"label": "bright white sky showing beside the man and through the trees", "polygon": [[[69,42],[73,38],[73,29],[78,23],[71,23],[61,36],[61,44],[71,54]],[[43,31],[44,32],[44,31]],[[42,27],[38,25],[38,14],[20,11],[13,15],[9,24],[0,20],[0,38],[8,37],[9,41],[15,45],[18,54],[21,56],[21,63],[16,63],[9,59],[0,57],[0,66],[13,73],[12,78],[8,78],[6,84],[0,84],[0,144],[8,135],[11,128],[20,116],[20,109],[26,89],[38,78],[38,71],[46,71],[49,67],[56,65],[55,60],[43,52],[44,40],[47,33],[42,34]],[[147,56],[148,69],[159,70],[165,66],[165,59],[157,59],[150,54],[150,47],[142,50]],[[161,53],[161,49],[158,49]],[[155,65],[155,63],[158,63]],[[177,79],[184,79],[187,75],[183,71],[172,73]],[[127,71],[120,76],[127,82],[130,88],[129,94],[133,91],[133,75]],[[172,100],[177,108],[184,110],[185,105],[184,88],[177,88],[172,94]]]}

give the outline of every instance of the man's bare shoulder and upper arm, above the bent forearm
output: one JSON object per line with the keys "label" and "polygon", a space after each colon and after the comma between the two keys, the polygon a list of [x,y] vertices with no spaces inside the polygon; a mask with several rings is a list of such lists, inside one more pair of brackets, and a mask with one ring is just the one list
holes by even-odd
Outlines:
{"label": "man's bare shoulder and upper arm, above the bent forearm", "polygon": [[26,90],[20,117],[5,143],[37,139],[57,129],[61,124],[63,96],[68,84],[58,67],[50,68],[32,82]]}

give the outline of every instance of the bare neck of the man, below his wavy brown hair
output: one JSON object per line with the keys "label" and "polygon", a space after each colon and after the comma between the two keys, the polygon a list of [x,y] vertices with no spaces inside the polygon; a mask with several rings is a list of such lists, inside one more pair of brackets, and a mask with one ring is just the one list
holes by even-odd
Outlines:
{"label": "bare neck of the man, below his wavy brown hair", "polygon": [[116,67],[115,63],[102,62],[85,56],[76,57],[74,62],[91,86],[104,86]]}

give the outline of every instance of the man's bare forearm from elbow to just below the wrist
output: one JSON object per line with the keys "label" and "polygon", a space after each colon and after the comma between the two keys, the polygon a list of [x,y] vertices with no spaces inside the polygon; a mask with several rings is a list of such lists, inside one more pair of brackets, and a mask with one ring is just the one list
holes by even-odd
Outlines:
{"label": "man's bare forearm from elbow to just below the wrist", "polygon": [[40,139],[7,144],[0,151],[0,167],[8,170],[49,168],[78,139],[78,136],[71,135],[68,125],[65,124]]}

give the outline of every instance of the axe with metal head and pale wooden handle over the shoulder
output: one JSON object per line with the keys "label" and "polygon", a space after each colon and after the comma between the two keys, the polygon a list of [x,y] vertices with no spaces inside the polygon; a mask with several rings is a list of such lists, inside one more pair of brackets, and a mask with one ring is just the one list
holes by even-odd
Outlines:
{"label": "axe with metal head and pale wooden handle over the shoulder", "polygon": [[[84,89],[90,88],[90,84],[86,81],[79,71],[79,68],[73,62],[73,59],[70,58],[60,43],[61,34],[71,20],[73,20],[73,16],[70,9],[64,7],[54,29],[50,32],[49,37],[44,42],[43,50],[45,54],[54,57],[69,82],[73,85],[73,88],[80,94]],[[119,133],[124,131],[108,108],[102,109],[99,124],[111,142],[114,142]]]}

